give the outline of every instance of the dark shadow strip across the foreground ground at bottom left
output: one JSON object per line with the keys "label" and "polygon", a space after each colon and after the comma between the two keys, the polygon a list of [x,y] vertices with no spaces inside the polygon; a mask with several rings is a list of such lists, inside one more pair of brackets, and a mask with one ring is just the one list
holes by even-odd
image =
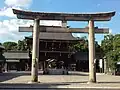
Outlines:
{"label": "dark shadow strip across the foreground ground at bottom left", "polygon": [[65,86],[70,84],[65,83],[38,83],[38,84],[0,84],[0,89],[48,89],[48,88],[57,88],[58,86]]}

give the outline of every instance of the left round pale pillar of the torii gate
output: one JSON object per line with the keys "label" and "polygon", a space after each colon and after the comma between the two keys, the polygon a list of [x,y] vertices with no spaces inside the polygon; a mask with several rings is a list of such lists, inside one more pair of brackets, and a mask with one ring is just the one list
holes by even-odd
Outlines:
{"label": "left round pale pillar of the torii gate", "polygon": [[38,82],[38,48],[39,48],[39,20],[34,20],[33,28],[33,50],[32,50],[32,82]]}

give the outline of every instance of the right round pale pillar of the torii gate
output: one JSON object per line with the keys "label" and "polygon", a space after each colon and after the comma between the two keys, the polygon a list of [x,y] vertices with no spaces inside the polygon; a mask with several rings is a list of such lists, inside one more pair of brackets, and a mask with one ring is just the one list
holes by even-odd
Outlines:
{"label": "right round pale pillar of the torii gate", "polygon": [[96,82],[94,21],[89,20],[89,82]]}

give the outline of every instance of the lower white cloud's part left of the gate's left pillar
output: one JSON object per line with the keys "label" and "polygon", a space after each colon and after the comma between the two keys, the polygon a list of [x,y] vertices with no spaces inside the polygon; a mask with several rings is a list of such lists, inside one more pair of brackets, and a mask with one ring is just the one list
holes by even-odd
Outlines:
{"label": "lower white cloud's part left of the gate's left pillar", "polygon": [[28,24],[32,24],[32,21],[18,19],[0,21],[0,39],[3,41],[17,41],[23,39],[25,34],[18,32],[18,27],[23,25],[28,26]]}

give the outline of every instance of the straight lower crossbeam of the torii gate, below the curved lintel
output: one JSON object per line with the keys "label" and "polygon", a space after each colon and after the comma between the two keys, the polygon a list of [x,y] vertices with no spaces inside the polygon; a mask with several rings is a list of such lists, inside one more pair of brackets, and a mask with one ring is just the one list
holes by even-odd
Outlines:
{"label": "straight lower crossbeam of the torii gate, below the curved lintel", "polygon": [[[52,33],[88,33],[89,28],[65,28],[60,26],[40,26],[40,32],[52,32]],[[19,27],[19,32],[32,32],[33,27]],[[95,33],[109,33],[109,28],[95,27]]]}

